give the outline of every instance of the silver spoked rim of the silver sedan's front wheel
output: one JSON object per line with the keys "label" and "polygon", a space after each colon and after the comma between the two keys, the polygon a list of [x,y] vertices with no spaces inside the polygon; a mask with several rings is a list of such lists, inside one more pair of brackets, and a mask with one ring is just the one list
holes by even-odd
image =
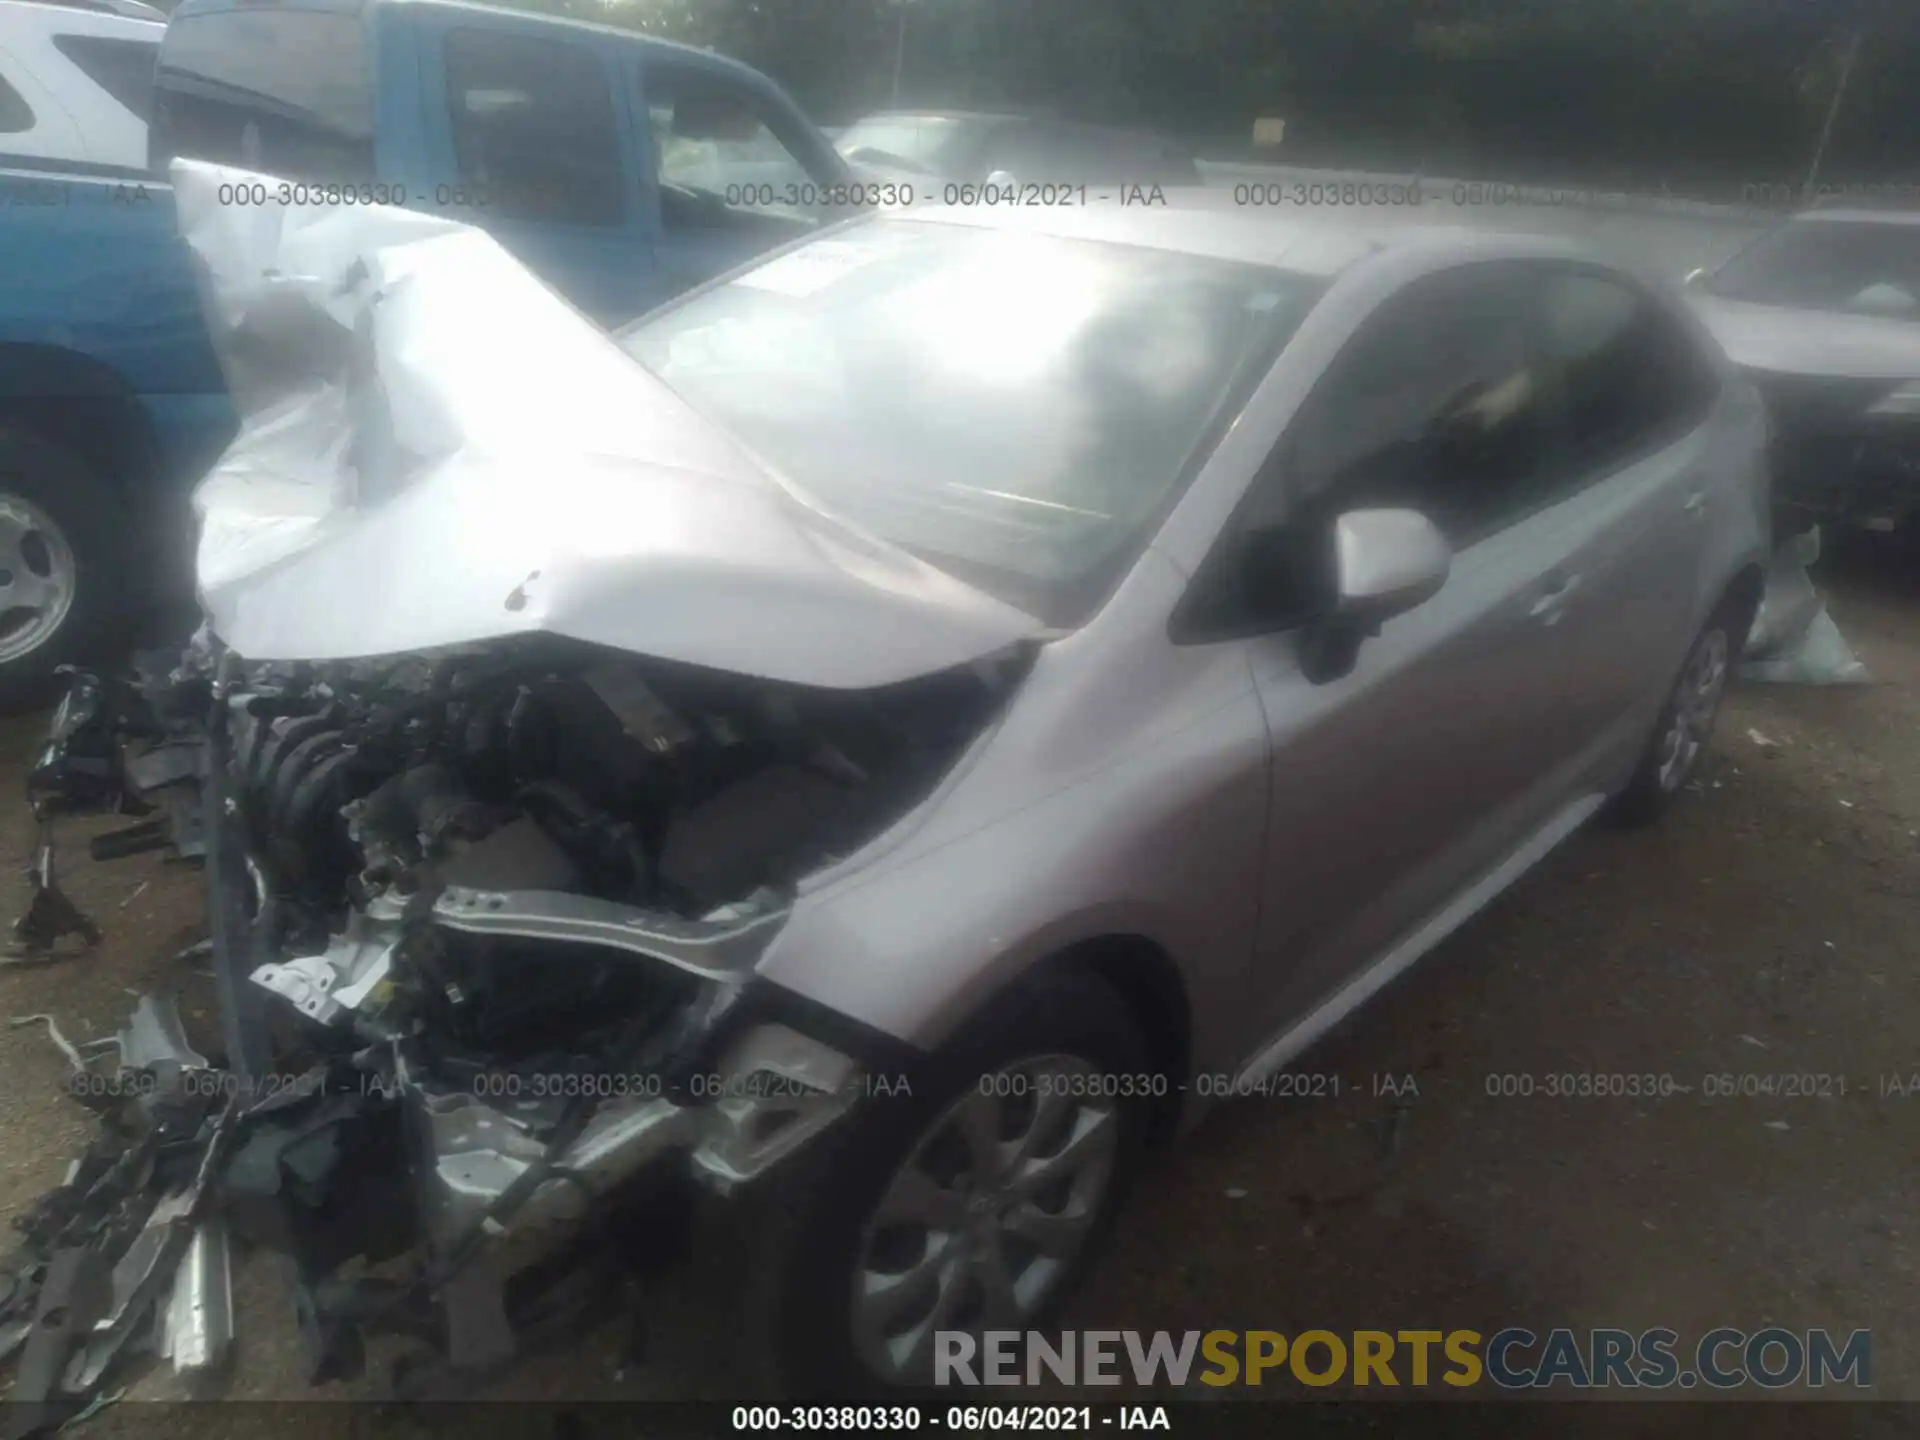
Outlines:
{"label": "silver spoked rim of the silver sedan's front wheel", "polygon": [[868,1369],[922,1382],[935,1331],[1020,1331],[1054,1296],[1114,1183],[1119,1102],[1100,1091],[1089,1062],[1035,1056],[922,1131],[860,1233],[852,1336]]}

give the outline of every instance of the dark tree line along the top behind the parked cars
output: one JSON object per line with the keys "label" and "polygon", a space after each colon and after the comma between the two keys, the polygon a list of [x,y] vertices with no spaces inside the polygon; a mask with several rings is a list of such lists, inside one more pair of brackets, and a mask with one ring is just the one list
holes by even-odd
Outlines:
{"label": "dark tree line along the top behind the parked cars", "polygon": [[[1202,157],[1738,196],[1920,182],[1920,0],[503,0],[714,46],[822,123],[883,108],[1150,125]],[[902,25],[904,21],[904,25]],[[904,40],[904,42],[902,42]]]}

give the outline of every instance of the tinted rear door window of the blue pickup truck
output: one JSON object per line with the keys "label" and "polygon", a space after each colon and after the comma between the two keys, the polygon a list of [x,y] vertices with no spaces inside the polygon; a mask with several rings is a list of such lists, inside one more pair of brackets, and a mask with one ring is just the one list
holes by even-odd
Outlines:
{"label": "tinted rear door window of the blue pickup truck", "polygon": [[493,213],[555,225],[626,215],[620,136],[601,58],[564,40],[447,31],[461,180]]}

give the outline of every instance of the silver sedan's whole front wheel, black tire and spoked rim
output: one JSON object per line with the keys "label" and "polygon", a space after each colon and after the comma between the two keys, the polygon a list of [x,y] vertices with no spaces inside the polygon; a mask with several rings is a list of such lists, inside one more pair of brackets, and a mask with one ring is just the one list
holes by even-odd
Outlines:
{"label": "silver sedan's whole front wheel, black tire and spoked rim", "polygon": [[[1002,996],[849,1116],[785,1242],[783,1388],[904,1394],[939,1382],[941,1332],[1029,1331],[1073,1290],[1139,1162],[1150,1091],[1131,1014],[1100,981]],[[948,1344],[954,1344],[948,1340]]]}

